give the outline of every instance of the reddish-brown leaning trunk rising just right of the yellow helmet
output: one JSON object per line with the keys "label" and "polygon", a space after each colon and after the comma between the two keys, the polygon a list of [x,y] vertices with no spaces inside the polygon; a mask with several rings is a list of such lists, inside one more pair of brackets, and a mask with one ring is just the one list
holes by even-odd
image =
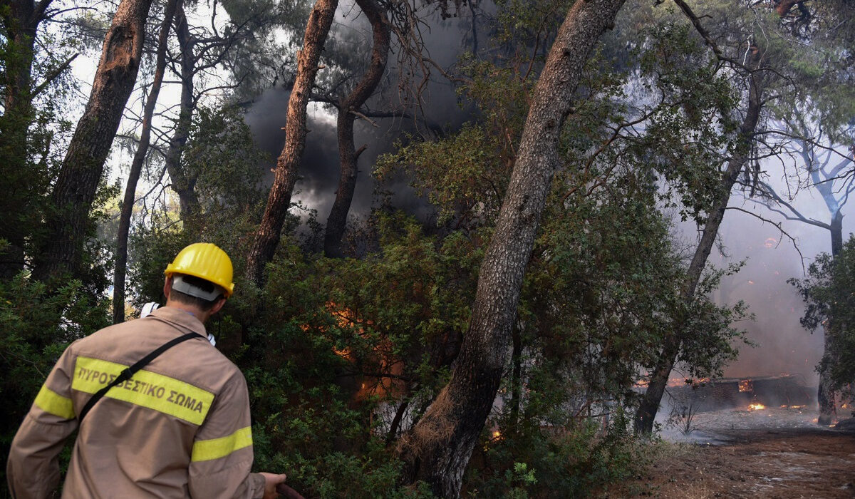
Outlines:
{"label": "reddish-brown leaning trunk rising just right of the yellow helmet", "polygon": [[327,41],[338,3],[338,0],[315,2],[306,25],[303,50],[297,55],[297,79],[288,99],[285,146],[276,160],[274,183],[270,187],[262,223],[246,257],[246,278],[255,282],[259,288],[264,278],[264,266],[273,260],[276,247],[279,246],[282,224],[291,206],[291,194],[306,145],[306,106],[309,104],[312,86],[315,85],[321,50]]}

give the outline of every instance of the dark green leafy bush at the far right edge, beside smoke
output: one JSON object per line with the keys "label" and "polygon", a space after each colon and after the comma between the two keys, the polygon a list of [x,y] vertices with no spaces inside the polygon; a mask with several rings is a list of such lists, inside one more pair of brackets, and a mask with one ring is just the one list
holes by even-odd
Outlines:
{"label": "dark green leafy bush at the far right edge, beside smoke", "polygon": [[825,353],[817,370],[828,372],[834,388],[855,378],[855,236],[850,235],[840,253],[832,258],[820,253],[804,279],[790,284],[805,300],[801,324],[807,330],[823,327]]}

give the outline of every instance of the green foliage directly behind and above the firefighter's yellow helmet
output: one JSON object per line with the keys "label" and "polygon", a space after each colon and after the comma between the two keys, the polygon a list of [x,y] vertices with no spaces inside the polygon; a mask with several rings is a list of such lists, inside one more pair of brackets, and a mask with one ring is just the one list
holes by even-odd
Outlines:
{"label": "green foliage directly behind and above the firefighter's yellow helmet", "polygon": [[[162,299],[163,270],[192,242],[212,242],[229,255],[243,255],[261,217],[265,159],[243,116],[233,107],[200,108],[182,168],[196,178],[199,213],[179,223],[173,211],[156,212],[149,223],[139,223],[130,236],[128,301],[142,305]],[[232,258],[235,278],[243,276],[244,258]]]}

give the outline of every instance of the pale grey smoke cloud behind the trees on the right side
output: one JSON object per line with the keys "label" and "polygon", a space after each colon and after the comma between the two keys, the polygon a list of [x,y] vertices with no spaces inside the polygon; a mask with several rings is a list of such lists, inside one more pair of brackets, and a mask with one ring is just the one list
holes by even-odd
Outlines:
{"label": "pale grey smoke cloud behind the trees on the right side", "polygon": [[[828,223],[828,210],[818,196],[811,198],[809,192],[800,194],[799,205],[805,216]],[[731,202],[766,218],[781,221],[781,216],[769,212],[763,205],[752,202]],[[844,240],[852,232],[855,214],[852,206],[844,207],[849,214],[843,219]],[[799,251],[805,257],[805,268],[820,252],[831,252],[831,235],[828,230],[795,221],[783,221],[783,228],[797,239]],[[756,320],[745,324],[749,339],[757,348],[741,348],[740,359],[730,365],[726,375],[750,377],[777,375],[781,373],[802,374],[808,382],[815,382],[817,365],[823,353],[823,332],[812,335],[802,328],[799,318],[804,312],[804,303],[792,285],[791,277],[804,276],[799,252],[793,243],[782,236],[770,223],[763,223],[746,213],[728,211],[720,231],[722,242],[730,258],[722,258],[714,252],[710,264],[722,265],[725,261],[746,259],[746,266],[728,282],[716,299],[728,303],[745,300]],[[780,242],[780,244],[779,244]]]}

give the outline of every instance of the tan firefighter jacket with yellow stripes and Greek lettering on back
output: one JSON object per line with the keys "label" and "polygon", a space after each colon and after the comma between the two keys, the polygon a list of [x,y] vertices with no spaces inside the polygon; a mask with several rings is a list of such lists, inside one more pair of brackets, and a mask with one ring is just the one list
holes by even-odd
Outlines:
{"label": "tan firefighter jacket with yellow stripes and Greek lettering on back", "polygon": [[[50,371],[9,450],[12,496],[49,497],[57,454],[92,394],[202,323],[162,307],[72,343]],[[107,392],[86,415],[62,497],[262,497],[250,403],[237,366],[203,338],[179,343]]]}

